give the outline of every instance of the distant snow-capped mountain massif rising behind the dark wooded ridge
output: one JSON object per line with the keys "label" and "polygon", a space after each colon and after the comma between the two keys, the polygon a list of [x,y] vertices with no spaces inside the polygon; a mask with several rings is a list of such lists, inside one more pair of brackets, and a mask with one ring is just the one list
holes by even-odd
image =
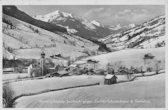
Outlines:
{"label": "distant snow-capped mountain massif rising behind the dark wooded ridge", "polygon": [[32,17],[66,27],[69,34],[76,34],[87,39],[105,37],[113,32],[95,20],[90,22],[84,18],[59,10],[46,15],[33,15]]}

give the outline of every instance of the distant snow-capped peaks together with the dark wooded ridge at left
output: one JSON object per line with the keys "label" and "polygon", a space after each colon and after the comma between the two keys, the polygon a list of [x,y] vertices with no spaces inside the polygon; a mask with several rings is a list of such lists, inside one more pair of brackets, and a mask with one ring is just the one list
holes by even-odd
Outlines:
{"label": "distant snow-capped peaks together with the dark wooded ridge at left", "polygon": [[46,15],[29,16],[18,10],[16,6],[3,6],[3,13],[51,32],[75,34],[89,40],[103,38],[125,29],[125,27],[122,29],[111,29],[108,26],[103,26],[96,20],[90,22],[74,14],[59,10]]}

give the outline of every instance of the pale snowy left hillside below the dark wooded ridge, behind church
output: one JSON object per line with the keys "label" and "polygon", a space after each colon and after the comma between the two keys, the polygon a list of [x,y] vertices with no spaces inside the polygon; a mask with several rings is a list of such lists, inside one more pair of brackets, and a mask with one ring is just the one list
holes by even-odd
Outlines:
{"label": "pale snowy left hillside below the dark wooded ridge, behind church", "polygon": [[85,50],[98,49],[98,45],[79,36],[52,33],[5,14],[3,21],[3,46],[8,51],[4,52],[4,57],[11,53],[16,58],[39,59],[44,51],[46,57],[61,54],[75,60],[76,57],[86,57]]}

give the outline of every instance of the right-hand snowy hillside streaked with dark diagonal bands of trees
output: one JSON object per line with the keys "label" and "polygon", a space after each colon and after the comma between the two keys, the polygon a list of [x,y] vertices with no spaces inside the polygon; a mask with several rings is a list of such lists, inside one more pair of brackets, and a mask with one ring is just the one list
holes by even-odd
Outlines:
{"label": "right-hand snowy hillside streaked with dark diagonal bands of trees", "polygon": [[114,50],[125,48],[152,48],[165,45],[165,16],[156,17],[142,25],[117,34],[111,34],[99,41]]}

